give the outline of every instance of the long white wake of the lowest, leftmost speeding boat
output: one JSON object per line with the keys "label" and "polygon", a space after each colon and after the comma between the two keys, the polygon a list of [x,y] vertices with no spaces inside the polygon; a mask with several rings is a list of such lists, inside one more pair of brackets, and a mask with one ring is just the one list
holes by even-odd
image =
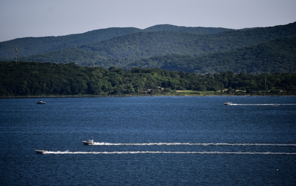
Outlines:
{"label": "long white wake of the lowest, leftmost speeding boat", "polygon": [[43,154],[277,154],[296,155],[296,152],[221,152],[221,151],[114,151],[114,152],[70,152],[47,151]]}

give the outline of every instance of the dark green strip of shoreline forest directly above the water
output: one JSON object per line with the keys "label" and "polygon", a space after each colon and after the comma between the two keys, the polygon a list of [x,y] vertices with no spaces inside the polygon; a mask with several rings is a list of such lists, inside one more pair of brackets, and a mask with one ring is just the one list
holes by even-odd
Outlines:
{"label": "dark green strip of shoreline forest directly above the water", "polygon": [[176,95],[176,90],[217,95],[296,95],[296,74],[196,74],[131,70],[74,63],[0,62],[0,96]]}

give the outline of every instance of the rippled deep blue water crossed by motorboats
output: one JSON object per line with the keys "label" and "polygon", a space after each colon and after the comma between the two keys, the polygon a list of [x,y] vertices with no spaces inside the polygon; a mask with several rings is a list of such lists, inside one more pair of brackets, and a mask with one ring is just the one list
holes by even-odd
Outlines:
{"label": "rippled deep blue water crossed by motorboats", "polygon": [[0,99],[1,186],[296,183],[296,97],[37,101]]}

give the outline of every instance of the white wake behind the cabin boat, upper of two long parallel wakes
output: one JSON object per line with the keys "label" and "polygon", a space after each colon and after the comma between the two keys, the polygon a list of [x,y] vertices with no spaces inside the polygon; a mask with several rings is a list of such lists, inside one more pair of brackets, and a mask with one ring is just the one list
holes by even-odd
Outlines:
{"label": "white wake behind the cabin boat, upper of two long parallel wakes", "polygon": [[93,145],[99,146],[296,146],[296,144],[229,144],[229,143],[133,143],[133,144],[113,144],[105,142],[97,142]]}

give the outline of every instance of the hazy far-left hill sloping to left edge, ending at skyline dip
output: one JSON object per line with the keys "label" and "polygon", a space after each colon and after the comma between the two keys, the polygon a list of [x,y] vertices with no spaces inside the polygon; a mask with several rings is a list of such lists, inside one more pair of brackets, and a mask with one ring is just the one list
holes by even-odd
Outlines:
{"label": "hazy far-left hill sloping to left edge, ending at skyline dip", "polygon": [[89,31],[83,34],[72,34],[58,37],[24,37],[0,42],[0,59],[13,59],[14,49],[18,48],[18,56],[30,56],[39,53],[52,52],[71,46],[80,46],[113,37],[141,32],[137,28],[108,28]]}

